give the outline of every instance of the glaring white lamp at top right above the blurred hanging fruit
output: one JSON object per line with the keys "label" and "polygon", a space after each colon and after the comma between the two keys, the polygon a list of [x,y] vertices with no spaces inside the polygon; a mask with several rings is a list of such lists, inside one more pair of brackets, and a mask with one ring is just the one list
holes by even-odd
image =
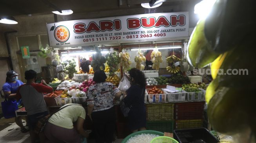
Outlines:
{"label": "glaring white lamp at top right above the blurred hanging fruit", "polygon": [[194,7],[194,13],[198,14],[200,19],[205,19],[211,13],[212,6],[216,0],[202,0]]}

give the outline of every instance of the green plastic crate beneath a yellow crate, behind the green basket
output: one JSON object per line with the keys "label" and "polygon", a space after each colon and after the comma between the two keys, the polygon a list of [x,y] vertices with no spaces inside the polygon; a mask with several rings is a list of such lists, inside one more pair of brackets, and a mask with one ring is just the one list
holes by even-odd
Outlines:
{"label": "green plastic crate beneath a yellow crate, behind the green basket", "polygon": [[174,120],[171,121],[147,121],[147,130],[156,130],[159,132],[173,132]]}

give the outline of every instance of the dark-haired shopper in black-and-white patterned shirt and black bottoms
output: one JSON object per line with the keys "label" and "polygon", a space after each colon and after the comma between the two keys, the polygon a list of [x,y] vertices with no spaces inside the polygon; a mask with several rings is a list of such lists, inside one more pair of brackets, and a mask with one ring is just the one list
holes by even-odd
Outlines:
{"label": "dark-haired shopper in black-and-white patterned shirt and black bottoms", "polygon": [[105,82],[103,70],[94,73],[97,84],[90,86],[87,94],[88,115],[93,121],[96,143],[112,143],[116,123],[113,100],[119,99],[121,91],[112,83]]}

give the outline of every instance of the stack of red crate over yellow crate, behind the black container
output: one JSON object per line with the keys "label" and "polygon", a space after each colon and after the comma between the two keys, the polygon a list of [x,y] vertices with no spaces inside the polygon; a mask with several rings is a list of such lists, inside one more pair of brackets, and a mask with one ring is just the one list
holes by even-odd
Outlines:
{"label": "stack of red crate over yellow crate, behind the black container", "polygon": [[205,102],[176,103],[174,107],[175,129],[202,127]]}

